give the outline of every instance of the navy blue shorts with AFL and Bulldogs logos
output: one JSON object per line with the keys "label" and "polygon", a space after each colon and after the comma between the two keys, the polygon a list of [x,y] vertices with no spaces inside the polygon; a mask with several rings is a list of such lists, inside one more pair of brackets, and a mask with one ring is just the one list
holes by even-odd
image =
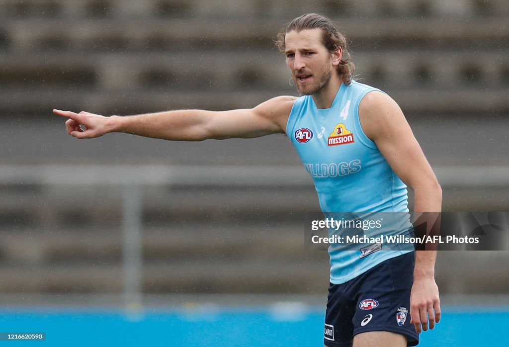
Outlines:
{"label": "navy blue shorts with AFL and Bulldogs logos", "polygon": [[419,343],[410,324],[410,290],[415,253],[406,253],[378,264],[342,284],[331,284],[325,313],[324,344],[352,345],[353,337],[366,331],[405,335],[408,346]]}

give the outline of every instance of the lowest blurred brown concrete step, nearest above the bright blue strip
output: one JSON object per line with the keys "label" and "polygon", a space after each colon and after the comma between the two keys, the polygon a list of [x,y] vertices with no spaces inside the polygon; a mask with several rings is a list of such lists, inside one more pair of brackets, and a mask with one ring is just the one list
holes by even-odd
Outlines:
{"label": "lowest blurred brown concrete step, nearest above the bright blue strip", "polygon": [[[310,253],[319,257],[310,258]],[[507,293],[509,276],[500,264],[506,252],[439,252],[436,279],[442,294]],[[321,293],[328,281],[327,253],[302,253],[297,260],[174,259],[146,263],[145,293]],[[0,266],[0,293],[121,293],[123,266],[59,264]]]}

